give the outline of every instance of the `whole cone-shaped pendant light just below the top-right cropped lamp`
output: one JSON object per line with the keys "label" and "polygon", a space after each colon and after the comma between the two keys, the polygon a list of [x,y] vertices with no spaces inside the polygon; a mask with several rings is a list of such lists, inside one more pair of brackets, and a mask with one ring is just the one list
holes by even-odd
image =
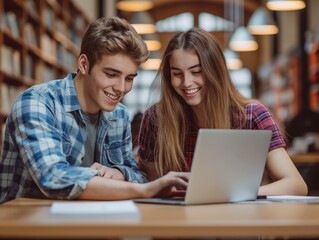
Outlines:
{"label": "whole cone-shaped pendant light just below the top-right cropped lamp", "polygon": [[275,24],[271,14],[264,7],[259,7],[250,17],[248,31],[254,35],[273,35],[278,33],[278,27]]}

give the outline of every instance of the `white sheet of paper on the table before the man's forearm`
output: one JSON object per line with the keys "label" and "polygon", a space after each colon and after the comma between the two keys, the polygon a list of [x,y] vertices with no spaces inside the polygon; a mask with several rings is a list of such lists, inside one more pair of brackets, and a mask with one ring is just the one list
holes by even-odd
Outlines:
{"label": "white sheet of paper on the table before the man's forearm", "polygon": [[138,217],[139,209],[132,200],[124,201],[70,201],[54,202],[52,214],[106,214]]}

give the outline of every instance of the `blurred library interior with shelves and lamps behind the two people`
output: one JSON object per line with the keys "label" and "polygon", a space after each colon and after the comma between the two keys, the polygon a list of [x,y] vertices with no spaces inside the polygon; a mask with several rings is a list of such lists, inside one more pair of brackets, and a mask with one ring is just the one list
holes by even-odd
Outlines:
{"label": "blurred library interior with shelves and lamps behind the two people", "polygon": [[159,97],[152,82],[168,40],[200,27],[220,41],[239,91],[270,109],[310,193],[317,195],[318,13],[318,0],[0,0],[0,148],[15,98],[77,70],[82,34],[92,20],[127,19],[150,50],[123,99],[132,121]]}

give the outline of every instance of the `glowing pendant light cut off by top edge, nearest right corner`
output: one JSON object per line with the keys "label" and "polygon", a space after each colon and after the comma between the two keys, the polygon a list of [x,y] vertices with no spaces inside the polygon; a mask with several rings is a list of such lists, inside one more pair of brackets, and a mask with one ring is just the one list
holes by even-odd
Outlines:
{"label": "glowing pendant light cut off by top edge, nearest right corner", "polygon": [[305,8],[306,3],[303,0],[268,0],[266,6],[273,11],[294,11]]}

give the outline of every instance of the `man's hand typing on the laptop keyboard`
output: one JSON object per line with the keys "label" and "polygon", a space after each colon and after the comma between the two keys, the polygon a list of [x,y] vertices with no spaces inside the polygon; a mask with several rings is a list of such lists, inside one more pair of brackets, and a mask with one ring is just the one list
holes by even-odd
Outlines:
{"label": "man's hand typing on the laptop keyboard", "polygon": [[163,177],[144,184],[145,197],[182,197],[188,185],[189,172],[169,172]]}

